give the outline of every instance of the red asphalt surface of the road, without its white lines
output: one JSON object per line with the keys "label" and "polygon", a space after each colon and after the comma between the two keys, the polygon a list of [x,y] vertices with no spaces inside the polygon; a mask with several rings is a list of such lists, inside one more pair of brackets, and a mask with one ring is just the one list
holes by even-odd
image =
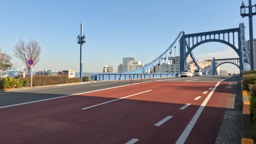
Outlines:
{"label": "red asphalt surface of the road, without its white lines", "polygon": [[[150,82],[0,109],[0,143],[125,143],[133,138],[137,143],[175,143],[216,83]],[[232,90],[227,85],[220,83],[186,142],[214,142]],[[81,110],[149,89],[153,91]],[[197,96],[202,98],[194,100]],[[179,110],[187,103],[191,105]],[[154,126],[169,115],[173,117],[166,123]]]}

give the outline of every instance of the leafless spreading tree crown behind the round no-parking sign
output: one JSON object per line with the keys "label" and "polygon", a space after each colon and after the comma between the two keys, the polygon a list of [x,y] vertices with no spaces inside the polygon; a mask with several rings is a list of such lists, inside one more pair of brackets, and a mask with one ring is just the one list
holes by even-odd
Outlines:
{"label": "leafless spreading tree crown behind the round no-parking sign", "polygon": [[25,43],[23,39],[20,39],[14,46],[14,56],[21,59],[26,64],[27,69],[30,69],[30,65],[27,63],[28,59],[33,59],[36,65],[40,61],[41,46],[37,40],[31,40]]}

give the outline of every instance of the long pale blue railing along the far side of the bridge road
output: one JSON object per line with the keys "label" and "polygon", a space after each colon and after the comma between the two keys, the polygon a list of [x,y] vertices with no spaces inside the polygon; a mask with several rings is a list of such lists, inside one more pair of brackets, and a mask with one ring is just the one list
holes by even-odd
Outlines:
{"label": "long pale blue railing along the far side of the bridge road", "polygon": [[[79,77],[79,73],[75,73],[75,77]],[[177,77],[179,73],[150,73],[150,74],[125,74],[125,73],[83,73],[88,76],[90,81],[113,81],[113,80],[131,80],[132,79],[149,79],[157,77]]]}

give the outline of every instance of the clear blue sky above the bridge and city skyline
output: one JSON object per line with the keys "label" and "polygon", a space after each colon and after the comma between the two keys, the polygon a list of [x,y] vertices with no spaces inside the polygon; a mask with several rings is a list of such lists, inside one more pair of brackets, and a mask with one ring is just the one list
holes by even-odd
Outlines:
{"label": "clear blue sky above the bridge and city skyline", "polygon": [[[235,28],[245,22],[249,39],[248,17],[240,16],[241,3],[240,0],[2,1],[0,47],[14,57],[13,48],[19,38],[36,39],[42,46],[41,61],[36,68],[79,71],[76,38],[83,22],[87,36],[82,50],[84,71],[101,72],[105,64],[116,69],[123,57],[135,57],[146,64],[166,50],[180,31],[214,31]],[[254,16],[254,29],[255,22]],[[208,43],[193,52],[196,58],[208,58],[211,53],[226,49],[232,51],[224,44]],[[208,57],[203,57],[205,54]],[[17,58],[13,58],[13,63],[22,67]]]}

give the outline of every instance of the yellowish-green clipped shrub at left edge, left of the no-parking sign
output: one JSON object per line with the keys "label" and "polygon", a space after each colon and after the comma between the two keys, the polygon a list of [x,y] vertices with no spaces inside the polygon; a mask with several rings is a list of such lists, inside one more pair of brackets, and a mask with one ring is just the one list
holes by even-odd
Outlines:
{"label": "yellowish-green clipped shrub at left edge, left of the no-parking sign", "polygon": [[19,88],[27,85],[27,79],[14,79],[11,77],[3,77],[0,81],[1,88]]}

